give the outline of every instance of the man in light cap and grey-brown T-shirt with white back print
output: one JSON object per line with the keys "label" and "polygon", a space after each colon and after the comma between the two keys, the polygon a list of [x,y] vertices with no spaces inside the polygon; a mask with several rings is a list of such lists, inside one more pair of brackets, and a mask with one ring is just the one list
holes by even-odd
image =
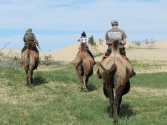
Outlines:
{"label": "man in light cap and grey-brown T-shirt with white back print", "polygon": [[[117,20],[112,20],[111,25],[112,25],[112,29],[108,30],[106,32],[106,36],[105,36],[106,44],[108,45],[108,49],[107,49],[107,52],[105,53],[105,56],[108,56],[109,54],[111,54],[113,40],[119,40],[119,52],[121,55],[126,56],[124,45],[126,44],[127,36],[123,30],[118,28],[118,21]],[[130,61],[129,61],[129,63],[131,64]],[[132,66],[132,64],[131,64],[131,66]],[[97,73],[98,73],[98,71],[97,71]],[[134,76],[134,75],[136,75],[136,73],[134,72],[134,69],[132,66],[132,76]]]}

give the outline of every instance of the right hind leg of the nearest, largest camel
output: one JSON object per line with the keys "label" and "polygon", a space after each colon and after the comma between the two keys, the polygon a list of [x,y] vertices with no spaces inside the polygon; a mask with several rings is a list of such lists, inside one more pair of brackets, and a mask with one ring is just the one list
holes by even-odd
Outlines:
{"label": "right hind leg of the nearest, largest camel", "polygon": [[114,121],[113,124],[116,125],[118,122],[118,112],[120,110],[120,103],[122,102],[122,92],[124,90],[124,86],[121,85],[117,88],[116,95],[115,95],[115,100],[114,100]]}

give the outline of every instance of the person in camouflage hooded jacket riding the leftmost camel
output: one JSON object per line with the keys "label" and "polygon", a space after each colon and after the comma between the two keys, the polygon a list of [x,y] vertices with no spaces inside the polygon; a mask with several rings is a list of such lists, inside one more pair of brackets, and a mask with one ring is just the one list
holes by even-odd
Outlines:
{"label": "person in camouflage hooded jacket riding the leftmost camel", "polygon": [[27,49],[27,45],[28,45],[29,42],[34,42],[34,47],[33,47],[33,49],[34,49],[37,53],[39,53],[39,51],[38,51],[36,45],[38,46],[39,49],[40,49],[40,46],[39,46],[39,43],[38,43],[38,41],[37,41],[37,39],[36,39],[34,33],[32,33],[32,29],[31,29],[31,28],[29,28],[29,29],[26,31],[26,33],[25,33],[25,35],[24,35],[24,37],[23,37],[23,41],[25,42],[25,44],[24,44],[23,49],[21,50],[21,53],[24,52],[24,50]]}

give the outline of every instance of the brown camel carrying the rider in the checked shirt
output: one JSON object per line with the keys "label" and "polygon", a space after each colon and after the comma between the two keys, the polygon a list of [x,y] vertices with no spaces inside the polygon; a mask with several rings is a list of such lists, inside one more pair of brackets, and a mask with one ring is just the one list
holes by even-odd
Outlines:
{"label": "brown camel carrying the rider in the checked shirt", "polygon": [[89,77],[93,74],[94,61],[92,57],[87,53],[85,43],[81,43],[80,52],[75,57],[72,64],[74,64],[76,68],[79,82],[84,84],[82,89],[84,91],[88,91],[88,88],[87,88],[88,80],[89,80]]}

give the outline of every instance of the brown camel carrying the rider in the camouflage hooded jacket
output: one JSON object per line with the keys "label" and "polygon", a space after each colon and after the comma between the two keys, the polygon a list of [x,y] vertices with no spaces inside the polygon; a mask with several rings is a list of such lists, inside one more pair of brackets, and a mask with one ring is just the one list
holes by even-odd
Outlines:
{"label": "brown camel carrying the rider in the camouflage hooded jacket", "polygon": [[37,69],[39,62],[39,54],[33,50],[34,43],[29,42],[27,49],[21,54],[22,66],[27,75],[27,85],[31,87],[33,81],[33,70]]}

